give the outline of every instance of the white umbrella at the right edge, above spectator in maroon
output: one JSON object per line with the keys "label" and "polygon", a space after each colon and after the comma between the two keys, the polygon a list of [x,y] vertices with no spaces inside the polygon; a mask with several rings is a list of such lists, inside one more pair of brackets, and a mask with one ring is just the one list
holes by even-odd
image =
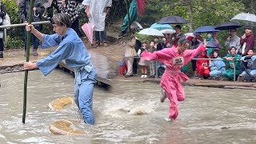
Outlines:
{"label": "white umbrella at the right edge, above spectator in maroon", "polygon": [[249,13],[241,13],[235,15],[233,18],[230,19],[230,21],[239,22],[240,24],[245,26],[254,26],[256,25],[256,15]]}

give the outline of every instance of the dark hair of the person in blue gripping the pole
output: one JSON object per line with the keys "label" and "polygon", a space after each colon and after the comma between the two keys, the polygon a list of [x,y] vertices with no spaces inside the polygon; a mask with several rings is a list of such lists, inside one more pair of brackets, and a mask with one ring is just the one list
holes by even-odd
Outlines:
{"label": "dark hair of the person in blue gripping the pole", "polygon": [[71,26],[71,20],[70,17],[67,14],[54,14],[54,17],[51,18],[51,23],[56,24],[58,26],[66,26],[70,27]]}

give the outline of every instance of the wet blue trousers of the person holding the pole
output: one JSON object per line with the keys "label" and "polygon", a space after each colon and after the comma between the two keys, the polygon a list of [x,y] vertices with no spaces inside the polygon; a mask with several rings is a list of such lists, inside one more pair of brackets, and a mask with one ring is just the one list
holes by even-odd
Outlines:
{"label": "wet blue trousers of the person holding the pole", "polygon": [[[90,73],[86,70],[82,70],[80,74],[81,84],[75,82],[74,85],[74,102],[81,111],[84,122],[94,125],[93,91],[97,74],[94,69],[92,69]],[[77,75],[75,77],[77,77]]]}

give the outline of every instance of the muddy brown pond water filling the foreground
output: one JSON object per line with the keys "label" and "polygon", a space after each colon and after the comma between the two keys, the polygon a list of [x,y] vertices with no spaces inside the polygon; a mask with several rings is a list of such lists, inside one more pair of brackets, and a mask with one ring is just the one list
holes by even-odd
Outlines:
{"label": "muddy brown pond water filling the foreground", "polygon": [[[87,126],[77,106],[47,109],[56,98],[73,96],[74,78],[54,70],[46,78],[30,71],[26,124],[22,124],[24,72],[1,74],[0,143],[255,143],[254,90],[185,86],[176,122],[167,121],[169,102],[159,102],[158,84],[118,82],[111,90],[96,87],[96,123]],[[54,135],[50,123],[76,121],[86,136]]]}

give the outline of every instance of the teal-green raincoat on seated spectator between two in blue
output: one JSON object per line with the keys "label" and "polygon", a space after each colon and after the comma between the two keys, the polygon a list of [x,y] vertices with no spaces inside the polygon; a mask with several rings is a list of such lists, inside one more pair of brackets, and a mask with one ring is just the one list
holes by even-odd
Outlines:
{"label": "teal-green raincoat on seated spectator between two in blue", "polygon": [[[235,55],[227,54],[226,57],[224,57],[224,58],[231,58],[231,57],[234,57],[234,59],[236,59],[236,60],[239,60],[241,58],[241,56],[239,54],[235,54]],[[239,61],[236,61],[236,62],[227,61],[226,66],[228,66],[229,69],[223,71],[223,76],[225,78],[228,78],[229,80],[234,79],[234,64],[235,64],[235,76],[236,76],[236,78],[238,78],[238,75],[240,73],[241,65],[240,65]]]}

